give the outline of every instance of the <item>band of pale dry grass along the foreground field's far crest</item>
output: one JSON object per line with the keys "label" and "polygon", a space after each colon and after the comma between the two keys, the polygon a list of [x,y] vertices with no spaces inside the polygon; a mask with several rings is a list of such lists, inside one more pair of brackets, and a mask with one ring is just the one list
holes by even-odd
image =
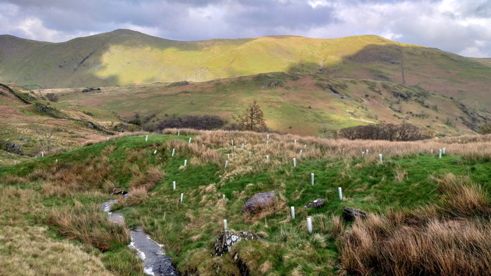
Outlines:
{"label": "band of pale dry grass along the foreground field's far crest", "polygon": [[[392,157],[405,157],[419,153],[430,155],[432,149],[434,155],[437,156],[438,150],[441,148],[446,149],[447,155],[461,155],[468,159],[481,159],[491,156],[491,135],[392,142],[323,139],[270,133],[269,142],[266,144],[267,133],[262,132],[166,129],[162,133],[176,134],[177,131],[182,134],[197,135],[190,145],[180,139],[171,140],[168,145],[169,150],[175,148],[177,152],[192,153],[195,157],[190,160],[191,166],[201,166],[208,161],[224,166],[227,153],[230,154],[229,164],[224,169],[220,184],[231,181],[240,175],[264,171],[265,168],[278,170],[282,164],[291,164],[293,157],[296,158],[297,164],[301,164],[302,160],[305,159],[344,159],[349,166],[349,160],[360,159],[361,152],[366,152],[366,150],[368,153],[365,153],[365,164],[377,162],[379,153],[383,155],[385,161]],[[231,146],[231,139],[237,146],[235,152]],[[294,140],[297,143],[294,143]],[[244,149],[242,149],[242,144],[244,144]],[[203,148],[202,145],[204,145]],[[300,150],[302,150],[301,155]],[[251,158],[249,158],[249,151],[252,154]],[[266,160],[266,155],[269,155],[269,161]],[[349,177],[347,174],[351,169],[347,168],[343,172],[345,177]],[[403,181],[407,177],[407,173],[401,170],[396,181]]]}

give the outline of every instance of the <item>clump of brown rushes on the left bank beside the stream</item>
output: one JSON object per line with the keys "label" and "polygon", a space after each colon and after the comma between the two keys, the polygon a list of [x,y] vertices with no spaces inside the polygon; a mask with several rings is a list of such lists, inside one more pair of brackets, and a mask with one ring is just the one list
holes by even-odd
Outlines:
{"label": "clump of brown rushes on the left bank beside the stream", "polygon": [[116,244],[126,245],[130,242],[128,229],[109,222],[107,215],[97,204],[53,208],[48,213],[47,223],[58,226],[57,231],[60,235],[68,239],[79,239],[103,251]]}

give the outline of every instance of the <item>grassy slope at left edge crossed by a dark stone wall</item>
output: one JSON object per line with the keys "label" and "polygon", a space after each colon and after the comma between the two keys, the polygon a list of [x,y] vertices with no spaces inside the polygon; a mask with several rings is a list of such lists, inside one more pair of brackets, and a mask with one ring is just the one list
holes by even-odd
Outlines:
{"label": "grassy slope at left edge crossed by a dark stone wall", "polygon": [[[78,148],[89,139],[117,133],[128,126],[115,113],[46,100],[31,90],[0,83],[0,166]],[[135,126],[126,127],[128,130]],[[6,152],[15,143],[20,152]]]}

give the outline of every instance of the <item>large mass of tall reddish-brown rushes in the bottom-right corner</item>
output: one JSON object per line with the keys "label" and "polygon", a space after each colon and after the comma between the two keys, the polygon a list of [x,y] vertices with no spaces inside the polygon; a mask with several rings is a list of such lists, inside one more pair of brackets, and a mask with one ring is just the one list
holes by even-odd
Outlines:
{"label": "large mass of tall reddish-brown rushes in the bottom-right corner", "polygon": [[491,208],[469,179],[439,179],[439,203],[357,219],[340,238],[343,275],[488,275]]}

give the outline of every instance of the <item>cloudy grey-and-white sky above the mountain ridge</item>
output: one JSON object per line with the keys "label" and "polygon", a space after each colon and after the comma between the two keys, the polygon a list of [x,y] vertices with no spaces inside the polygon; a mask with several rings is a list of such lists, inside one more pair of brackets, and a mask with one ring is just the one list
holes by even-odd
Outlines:
{"label": "cloudy grey-and-white sky above the mountain ridge", "polygon": [[378,34],[491,57],[491,0],[0,0],[0,34],[59,42],[119,28],[177,40]]}

